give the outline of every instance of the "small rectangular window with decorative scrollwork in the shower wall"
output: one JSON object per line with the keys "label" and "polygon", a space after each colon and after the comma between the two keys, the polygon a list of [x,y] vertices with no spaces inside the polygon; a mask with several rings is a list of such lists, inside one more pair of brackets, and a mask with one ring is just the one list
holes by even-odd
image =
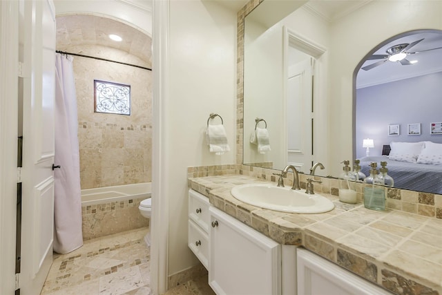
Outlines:
{"label": "small rectangular window with decorative scrollwork in the shower wall", "polygon": [[131,86],[94,80],[95,113],[131,115]]}

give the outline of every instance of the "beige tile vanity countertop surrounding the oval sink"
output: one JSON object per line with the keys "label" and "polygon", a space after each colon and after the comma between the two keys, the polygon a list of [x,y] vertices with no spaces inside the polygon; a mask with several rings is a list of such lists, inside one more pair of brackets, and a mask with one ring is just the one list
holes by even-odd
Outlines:
{"label": "beige tile vanity countertop surrounding the oval sink", "polygon": [[[327,213],[284,213],[245,204],[232,187],[268,182],[245,175],[189,178],[210,203],[280,244],[298,245],[395,294],[442,295],[442,220],[335,204]],[[273,182],[274,183],[274,182]],[[276,184],[275,184],[276,185]]]}

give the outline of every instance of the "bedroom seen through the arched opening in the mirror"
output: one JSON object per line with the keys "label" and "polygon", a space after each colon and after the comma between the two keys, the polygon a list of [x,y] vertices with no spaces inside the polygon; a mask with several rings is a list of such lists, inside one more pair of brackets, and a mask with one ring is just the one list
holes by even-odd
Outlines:
{"label": "bedroom seen through the arched opening in the mirror", "polygon": [[[394,61],[394,53],[403,59]],[[356,78],[356,158],[387,162],[394,187],[442,194],[442,31],[416,30],[387,40]],[[392,59],[393,61],[390,61]],[[367,155],[363,142],[375,143]]]}

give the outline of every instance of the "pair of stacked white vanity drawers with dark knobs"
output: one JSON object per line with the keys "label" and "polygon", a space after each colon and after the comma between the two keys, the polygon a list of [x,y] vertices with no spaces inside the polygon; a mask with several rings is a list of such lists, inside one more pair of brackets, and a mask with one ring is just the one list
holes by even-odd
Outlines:
{"label": "pair of stacked white vanity drawers with dark knobs", "polygon": [[209,220],[209,198],[190,189],[187,242],[206,269],[209,269]]}

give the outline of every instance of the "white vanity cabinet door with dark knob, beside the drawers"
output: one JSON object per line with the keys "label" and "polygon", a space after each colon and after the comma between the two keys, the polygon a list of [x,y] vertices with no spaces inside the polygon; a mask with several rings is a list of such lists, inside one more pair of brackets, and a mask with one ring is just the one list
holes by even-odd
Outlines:
{"label": "white vanity cabinet door with dark knob, beside the drawers", "polygon": [[280,294],[280,245],[210,207],[209,285],[216,294]]}

